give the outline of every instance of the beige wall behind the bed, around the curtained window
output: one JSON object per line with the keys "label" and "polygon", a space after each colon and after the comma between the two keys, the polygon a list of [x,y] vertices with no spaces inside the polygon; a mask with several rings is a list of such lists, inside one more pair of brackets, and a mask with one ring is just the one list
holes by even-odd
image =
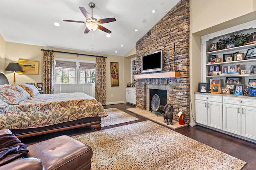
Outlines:
{"label": "beige wall behind the bed, around the curtained window", "polygon": [[[2,45],[3,44],[3,45]],[[4,45],[6,44],[6,45]],[[16,83],[17,84],[25,84],[26,82],[42,82],[42,51],[41,49],[48,49],[42,46],[36,45],[26,45],[20,43],[10,43],[5,42],[4,39],[0,37],[0,57],[3,56],[3,66],[2,71],[10,62],[18,63],[18,59],[28,59],[28,60],[35,60],[39,61],[39,74],[16,74]],[[2,47],[6,47],[5,49]],[[86,53],[83,51],[72,51],[66,49],[57,49],[57,48],[50,48],[50,50],[55,51],[65,51],[71,53],[82,53],[82,54],[89,54],[89,55],[100,55],[106,56],[106,74],[107,74],[107,104],[117,104],[123,103],[125,100],[125,83],[124,77],[127,75],[124,74],[124,57],[121,56],[112,56],[112,55],[103,55],[97,53]],[[84,55],[72,55],[72,54],[65,54],[65,53],[55,53],[55,57],[58,58],[68,58],[68,59],[77,59],[77,60],[87,60],[87,61],[96,61],[96,57],[89,57]],[[110,86],[110,62],[118,62],[119,67],[119,86],[111,87]],[[13,73],[12,72],[4,72],[6,77],[8,78],[10,84],[13,83]],[[130,76],[130,74],[128,74]],[[111,95],[113,94],[113,97]]]}

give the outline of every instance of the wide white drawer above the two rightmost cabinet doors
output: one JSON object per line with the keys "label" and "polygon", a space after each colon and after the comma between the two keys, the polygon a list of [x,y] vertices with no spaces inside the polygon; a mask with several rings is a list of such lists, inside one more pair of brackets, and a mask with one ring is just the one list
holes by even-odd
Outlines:
{"label": "wide white drawer above the two rightmost cabinet doors", "polygon": [[244,106],[255,106],[256,99],[223,96],[223,103],[235,104],[235,105],[238,104],[238,105],[244,105]]}

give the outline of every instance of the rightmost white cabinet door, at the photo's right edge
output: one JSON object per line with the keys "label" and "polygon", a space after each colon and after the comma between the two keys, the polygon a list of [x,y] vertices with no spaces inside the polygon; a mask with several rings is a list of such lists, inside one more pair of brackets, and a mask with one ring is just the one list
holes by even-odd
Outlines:
{"label": "rightmost white cabinet door, at the photo's right edge", "polygon": [[256,140],[256,108],[242,106],[242,136]]}

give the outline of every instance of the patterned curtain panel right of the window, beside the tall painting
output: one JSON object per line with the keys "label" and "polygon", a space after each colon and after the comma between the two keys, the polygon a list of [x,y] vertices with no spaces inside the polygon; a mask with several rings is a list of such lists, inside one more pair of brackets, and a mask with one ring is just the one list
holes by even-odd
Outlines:
{"label": "patterned curtain panel right of the window, beside the tall painting", "polygon": [[106,105],[106,58],[96,57],[95,98]]}

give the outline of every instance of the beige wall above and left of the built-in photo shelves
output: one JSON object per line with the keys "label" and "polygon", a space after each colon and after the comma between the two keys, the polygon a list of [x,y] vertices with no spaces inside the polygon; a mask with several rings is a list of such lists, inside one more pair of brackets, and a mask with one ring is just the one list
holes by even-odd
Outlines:
{"label": "beige wall above and left of the built-in photo shelves", "polygon": [[194,92],[201,82],[200,36],[255,19],[256,0],[190,0],[190,113],[194,118]]}

